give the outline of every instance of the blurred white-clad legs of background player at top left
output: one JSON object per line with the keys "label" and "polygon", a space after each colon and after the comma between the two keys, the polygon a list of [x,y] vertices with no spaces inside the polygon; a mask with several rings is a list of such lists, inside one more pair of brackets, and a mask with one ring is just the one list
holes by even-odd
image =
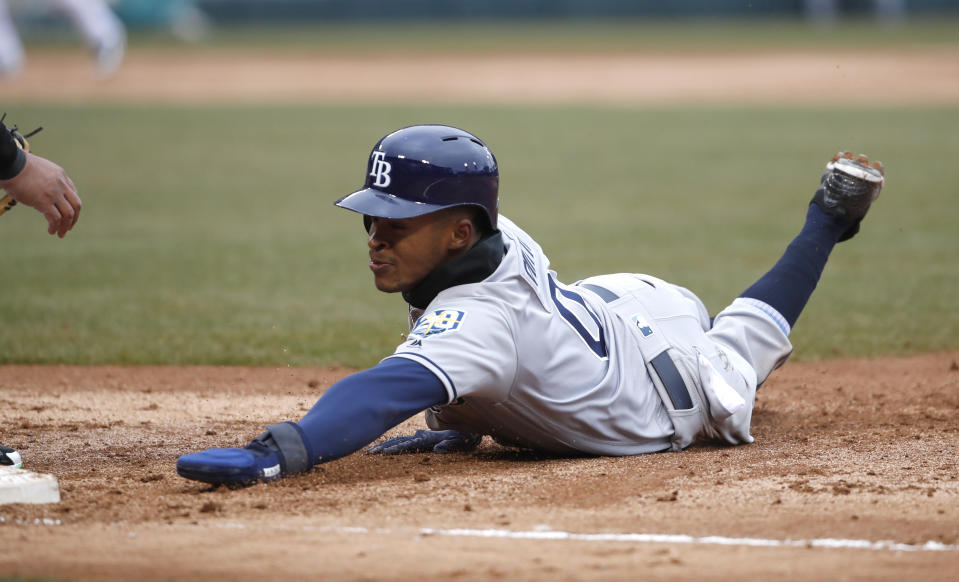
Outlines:
{"label": "blurred white-clad legs of background player at top left", "polygon": [[[69,17],[93,51],[97,74],[113,76],[123,63],[126,27],[104,0],[47,0]],[[10,16],[7,0],[0,0],[0,77],[23,69],[25,53]]]}

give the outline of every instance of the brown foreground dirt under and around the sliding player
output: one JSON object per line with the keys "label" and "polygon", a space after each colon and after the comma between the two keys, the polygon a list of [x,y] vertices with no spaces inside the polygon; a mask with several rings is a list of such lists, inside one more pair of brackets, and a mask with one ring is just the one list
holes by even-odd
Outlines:
{"label": "brown foreground dirt under and around the sliding player", "polygon": [[[744,447],[563,459],[487,440],[475,454],[357,454],[242,489],[181,479],[176,457],[298,418],[345,371],[6,366],[3,439],[27,467],[55,474],[63,499],[0,506],[0,572],[954,580],[957,362],[959,353],[787,364],[760,390],[756,442]],[[785,540],[801,541],[776,545]],[[848,547],[863,540],[907,546]]]}

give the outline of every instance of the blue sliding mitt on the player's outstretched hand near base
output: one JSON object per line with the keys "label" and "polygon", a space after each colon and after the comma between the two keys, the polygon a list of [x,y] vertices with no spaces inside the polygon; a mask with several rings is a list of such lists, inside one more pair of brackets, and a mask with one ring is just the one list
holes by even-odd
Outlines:
{"label": "blue sliding mitt on the player's outstretched hand near base", "polygon": [[[204,483],[257,483],[280,478],[278,450],[264,437],[257,437],[242,449],[207,449],[183,455],[176,462],[181,477]],[[269,439],[272,441],[272,439]]]}

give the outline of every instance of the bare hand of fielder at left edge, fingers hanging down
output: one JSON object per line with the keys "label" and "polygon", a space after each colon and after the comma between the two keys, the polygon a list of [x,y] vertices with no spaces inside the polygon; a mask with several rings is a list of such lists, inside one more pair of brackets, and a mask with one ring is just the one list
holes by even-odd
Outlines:
{"label": "bare hand of fielder at left edge, fingers hanging down", "polygon": [[66,171],[46,158],[27,153],[27,165],[0,188],[20,204],[35,208],[47,219],[47,232],[66,236],[80,218],[80,196]]}

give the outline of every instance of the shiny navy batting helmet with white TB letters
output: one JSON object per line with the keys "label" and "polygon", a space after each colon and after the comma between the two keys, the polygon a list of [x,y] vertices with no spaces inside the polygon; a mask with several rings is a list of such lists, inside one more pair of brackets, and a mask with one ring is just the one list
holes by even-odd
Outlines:
{"label": "shiny navy batting helmet with white TB letters", "polygon": [[498,190],[496,158],[479,138],[448,125],[414,125],[377,142],[363,188],[336,205],[379,218],[476,206],[495,229]]}

